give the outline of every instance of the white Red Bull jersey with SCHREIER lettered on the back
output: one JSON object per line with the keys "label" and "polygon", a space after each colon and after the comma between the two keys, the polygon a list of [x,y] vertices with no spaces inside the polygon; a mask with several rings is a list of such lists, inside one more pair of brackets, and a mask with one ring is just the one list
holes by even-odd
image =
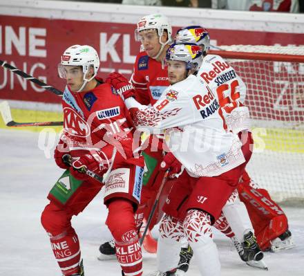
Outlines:
{"label": "white Red Bull jersey with SCHREIER lettered on the back", "polygon": [[234,68],[219,55],[207,55],[198,71],[198,77],[218,95],[227,131],[237,134],[249,129],[249,109],[243,105],[246,85]]}

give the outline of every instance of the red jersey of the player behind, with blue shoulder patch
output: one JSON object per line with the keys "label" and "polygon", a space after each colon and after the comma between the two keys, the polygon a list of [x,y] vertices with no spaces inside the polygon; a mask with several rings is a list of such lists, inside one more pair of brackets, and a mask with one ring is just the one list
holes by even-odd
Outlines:
{"label": "red jersey of the player behind, with blue shoulder patch", "polygon": [[154,104],[169,86],[167,68],[162,68],[161,62],[141,52],[136,57],[131,82],[138,102]]}

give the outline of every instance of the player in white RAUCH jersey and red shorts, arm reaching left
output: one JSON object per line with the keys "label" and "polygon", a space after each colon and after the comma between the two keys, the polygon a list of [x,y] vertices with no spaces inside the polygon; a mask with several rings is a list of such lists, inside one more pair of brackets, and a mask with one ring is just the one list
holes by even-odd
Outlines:
{"label": "player in white RAUCH jersey and red shorts, arm reaching left", "polygon": [[[173,44],[167,50],[171,86],[158,102],[147,107],[136,102],[130,85],[117,86],[137,129],[164,131],[169,151],[185,167],[164,204],[158,240],[159,275],[175,275],[180,259],[180,241],[186,237],[198,258],[201,275],[220,275],[220,261],[212,239],[211,225],[222,208],[234,201],[251,156],[251,135],[240,140],[226,131],[218,96],[196,77],[202,63],[202,50],[195,44]],[[252,229],[245,235],[254,241]],[[252,259],[262,259],[258,246]]]}

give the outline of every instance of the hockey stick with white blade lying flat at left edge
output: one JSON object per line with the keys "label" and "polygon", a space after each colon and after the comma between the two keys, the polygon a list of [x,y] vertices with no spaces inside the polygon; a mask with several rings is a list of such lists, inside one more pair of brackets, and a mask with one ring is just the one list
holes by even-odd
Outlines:
{"label": "hockey stick with white blade lying flat at left edge", "polygon": [[64,125],[64,122],[15,122],[12,120],[10,105],[7,101],[0,103],[0,112],[7,127],[53,127]]}

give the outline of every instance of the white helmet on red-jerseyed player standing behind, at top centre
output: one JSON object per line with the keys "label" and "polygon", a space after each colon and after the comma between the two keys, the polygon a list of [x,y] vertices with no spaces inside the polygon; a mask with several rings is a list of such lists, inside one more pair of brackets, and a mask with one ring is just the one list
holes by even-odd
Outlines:
{"label": "white helmet on red-jerseyed player standing behind, at top centre", "polygon": [[140,32],[144,30],[158,30],[158,36],[161,37],[164,33],[164,30],[167,30],[168,41],[165,44],[172,42],[172,27],[169,22],[169,19],[164,15],[154,14],[146,15],[137,22],[137,28],[135,30],[135,40],[140,41]]}

